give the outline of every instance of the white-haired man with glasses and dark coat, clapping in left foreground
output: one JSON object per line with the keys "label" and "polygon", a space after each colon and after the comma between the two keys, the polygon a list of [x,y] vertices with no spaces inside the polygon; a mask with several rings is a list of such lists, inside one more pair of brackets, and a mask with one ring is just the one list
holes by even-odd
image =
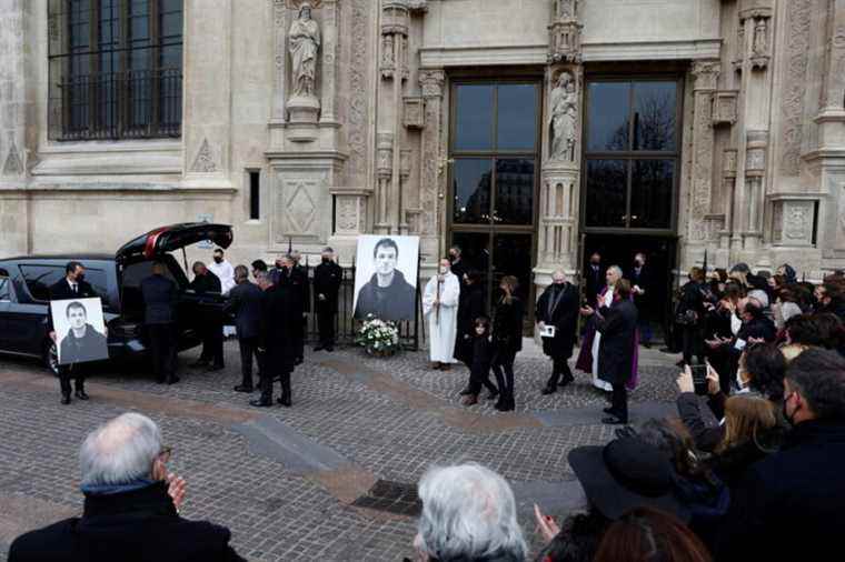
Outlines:
{"label": "white-haired man with glasses and dark coat, clapping in left foreground", "polygon": [[168,473],[170,455],[145,415],[100,425],[79,450],[82,516],[19,536],[9,562],[242,561],[228,529],[179,516],[185,481]]}

